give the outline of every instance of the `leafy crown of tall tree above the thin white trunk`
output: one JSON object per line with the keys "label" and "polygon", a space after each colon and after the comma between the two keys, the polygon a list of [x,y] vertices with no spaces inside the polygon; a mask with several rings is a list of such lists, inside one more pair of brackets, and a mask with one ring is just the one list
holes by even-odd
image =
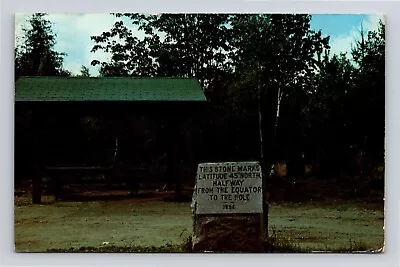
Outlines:
{"label": "leafy crown of tall tree above the thin white trunk", "polygon": [[290,14],[234,16],[237,73],[255,82],[254,87],[262,79],[263,86],[290,87],[296,83],[302,88],[315,70],[316,58],[329,48],[329,37],[322,38],[321,32],[310,30],[310,20],[311,16]]}

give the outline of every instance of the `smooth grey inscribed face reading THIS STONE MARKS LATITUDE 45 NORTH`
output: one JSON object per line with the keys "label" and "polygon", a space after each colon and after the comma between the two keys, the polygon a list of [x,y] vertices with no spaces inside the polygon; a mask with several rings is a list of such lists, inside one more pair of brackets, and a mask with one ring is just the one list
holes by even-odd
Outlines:
{"label": "smooth grey inscribed face reading THIS STONE MARKS LATITUDE 45 NORTH", "polygon": [[194,193],[196,214],[262,213],[260,164],[201,163]]}

